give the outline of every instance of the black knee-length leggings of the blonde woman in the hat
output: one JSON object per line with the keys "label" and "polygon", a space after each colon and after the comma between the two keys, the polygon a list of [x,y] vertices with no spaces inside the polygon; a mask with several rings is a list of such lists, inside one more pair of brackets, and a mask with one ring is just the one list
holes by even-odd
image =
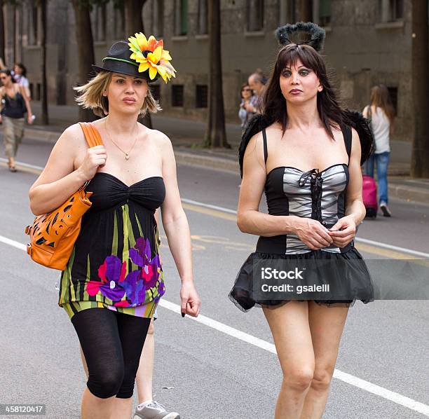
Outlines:
{"label": "black knee-length leggings of the blonde woman in the hat", "polygon": [[139,359],[151,320],[107,308],[71,317],[88,365],[88,389],[96,397],[132,397]]}

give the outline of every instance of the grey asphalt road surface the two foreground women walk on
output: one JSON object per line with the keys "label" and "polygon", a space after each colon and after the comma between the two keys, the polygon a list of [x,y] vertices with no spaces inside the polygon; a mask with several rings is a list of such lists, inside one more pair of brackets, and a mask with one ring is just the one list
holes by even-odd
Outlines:
{"label": "grey asphalt road surface the two foreground women walk on", "polygon": [[[26,140],[18,160],[42,166],[50,146]],[[182,198],[236,209],[238,176],[186,166],[178,175]],[[2,237],[27,242],[23,227],[32,221],[27,191],[35,179],[36,174],[12,174],[0,166]],[[174,311],[179,278],[162,236],[167,292],[156,321],[156,399],[184,419],[273,418],[282,376],[270,331],[261,310],[240,312],[227,298],[257,238],[240,233],[233,214],[185,207],[201,314],[207,319],[182,319]],[[394,217],[365,221],[359,237],[429,253],[429,207],[395,200],[390,207]],[[367,258],[395,256],[376,245],[362,245],[361,251]],[[46,418],[79,418],[85,379],[74,329],[57,307],[57,277],[22,249],[0,242],[0,404],[46,404]],[[428,321],[427,301],[357,302],[350,308],[323,418],[429,415],[418,413],[429,411]]]}

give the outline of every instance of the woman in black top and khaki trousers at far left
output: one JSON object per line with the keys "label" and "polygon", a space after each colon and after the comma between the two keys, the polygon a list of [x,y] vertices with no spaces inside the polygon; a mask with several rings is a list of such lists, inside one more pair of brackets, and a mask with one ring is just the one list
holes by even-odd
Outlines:
{"label": "woman in black top and khaki trousers at far left", "polygon": [[22,137],[24,137],[25,114],[27,114],[27,122],[32,124],[32,108],[24,88],[15,82],[11,71],[1,70],[0,80],[2,83],[0,87],[0,123],[4,127],[4,147],[8,158],[9,170],[16,172],[15,157]]}

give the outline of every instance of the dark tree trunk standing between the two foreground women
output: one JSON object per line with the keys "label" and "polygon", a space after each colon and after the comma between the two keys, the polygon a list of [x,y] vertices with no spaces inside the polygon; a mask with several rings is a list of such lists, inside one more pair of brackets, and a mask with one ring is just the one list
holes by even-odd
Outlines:
{"label": "dark tree trunk standing between the two foreground women", "polygon": [[205,146],[226,147],[224,95],[222,92],[220,0],[208,2],[209,32],[209,109]]}

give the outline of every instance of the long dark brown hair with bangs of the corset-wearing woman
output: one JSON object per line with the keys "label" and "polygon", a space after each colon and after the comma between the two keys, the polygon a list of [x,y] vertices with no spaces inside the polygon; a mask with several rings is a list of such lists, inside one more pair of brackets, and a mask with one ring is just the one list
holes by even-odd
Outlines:
{"label": "long dark brown hair with bangs of the corset-wearing woman", "polygon": [[278,52],[273,73],[264,92],[263,114],[271,121],[281,123],[283,133],[285,133],[287,104],[280,90],[279,80],[285,67],[292,67],[297,63],[297,60],[301,60],[304,66],[312,69],[323,86],[323,90],[318,92],[318,112],[329,137],[334,139],[334,134],[332,133],[334,123],[341,126],[343,123],[348,123],[348,118],[340,104],[338,94],[332,88],[325,62],[313,47],[306,44],[290,43]]}

